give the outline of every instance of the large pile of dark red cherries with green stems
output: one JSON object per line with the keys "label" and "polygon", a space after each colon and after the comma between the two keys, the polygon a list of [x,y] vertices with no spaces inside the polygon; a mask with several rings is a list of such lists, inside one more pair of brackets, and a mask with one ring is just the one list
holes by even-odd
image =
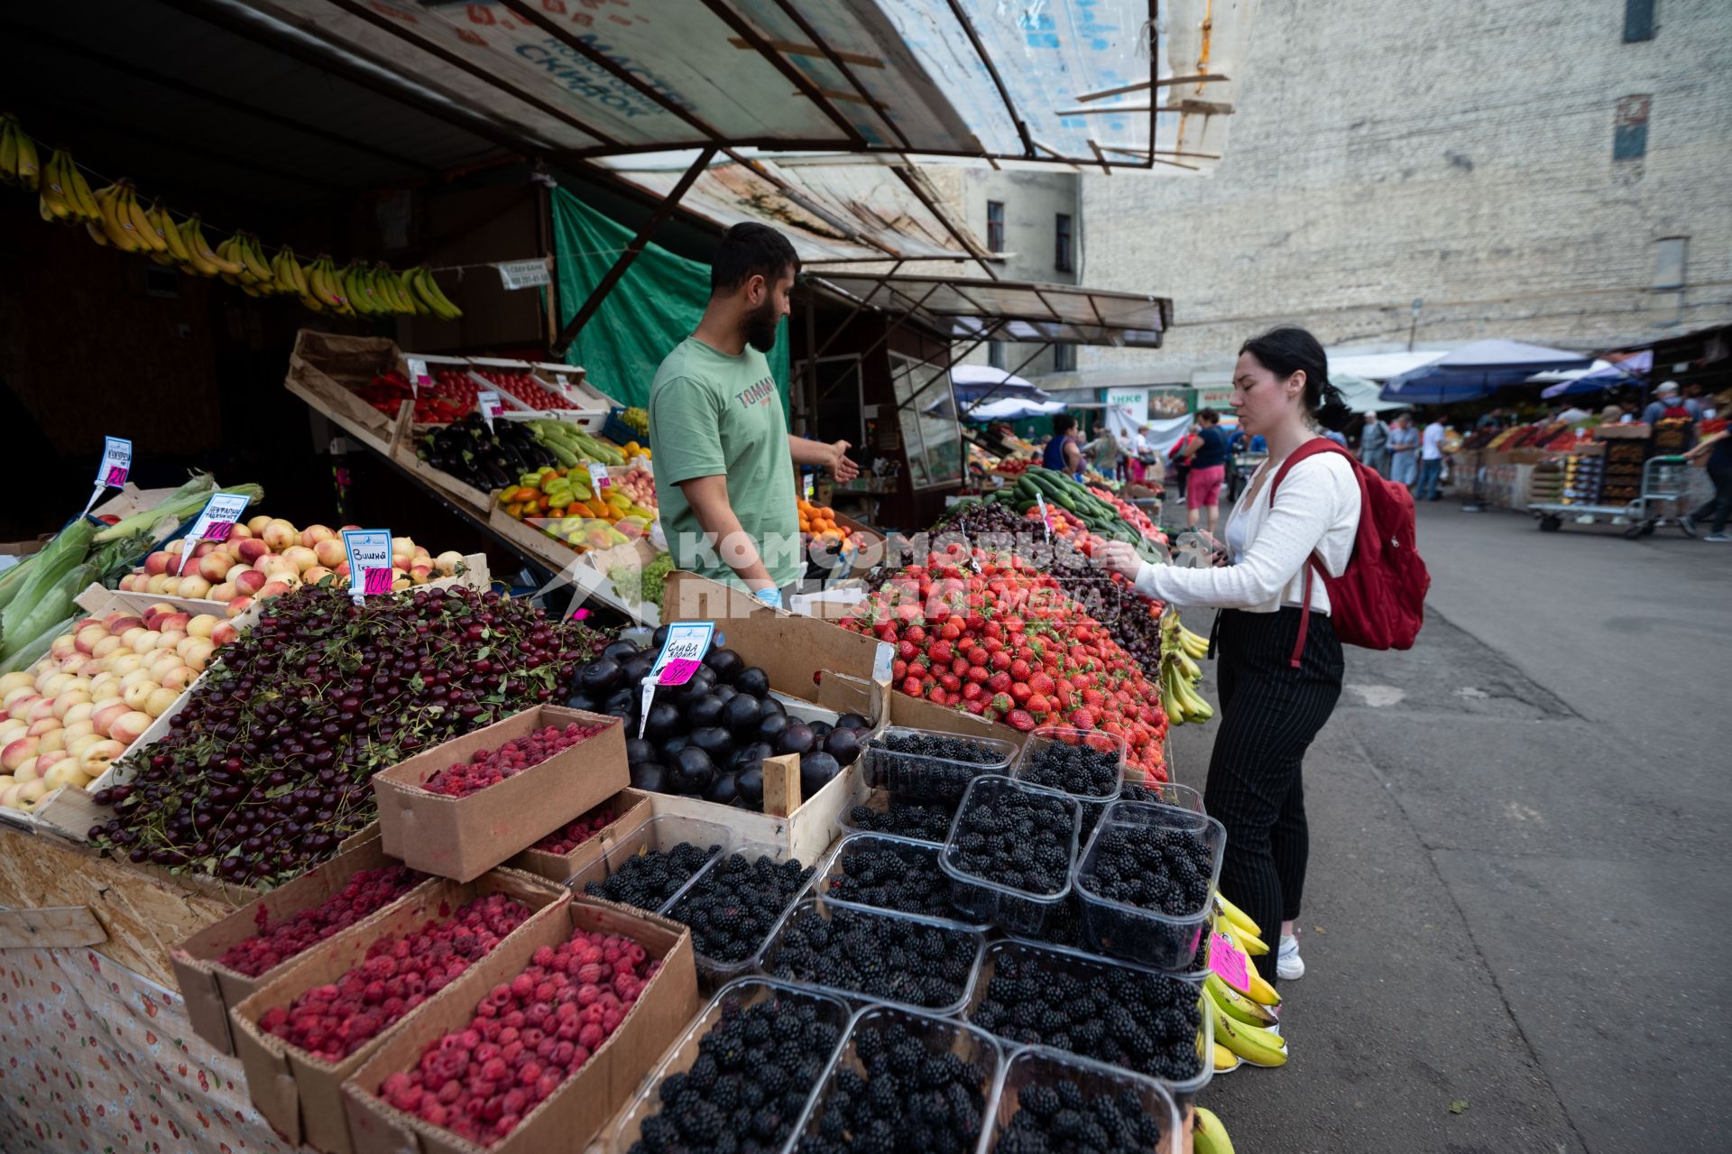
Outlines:
{"label": "large pile of dark red cherries with green stems", "polygon": [[301,587],[222,650],[168,733],[99,790],[109,854],[234,884],[282,884],[376,814],[369,778],[563,698],[570,629],[464,587],[365,598]]}

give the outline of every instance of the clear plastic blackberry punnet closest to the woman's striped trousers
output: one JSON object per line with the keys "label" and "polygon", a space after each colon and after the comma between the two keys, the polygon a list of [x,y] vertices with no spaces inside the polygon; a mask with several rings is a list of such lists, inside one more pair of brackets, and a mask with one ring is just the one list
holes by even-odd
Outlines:
{"label": "clear plastic blackberry punnet closest to the woman's striped trousers", "polygon": [[[1102,839],[1121,828],[1162,828],[1199,833],[1209,849],[1209,896],[1197,910],[1181,915],[1147,910],[1100,896],[1095,870],[1100,865]],[[1082,929],[1095,951],[1136,962],[1157,970],[1188,970],[1197,943],[1209,925],[1214,885],[1221,878],[1226,853],[1226,827],[1205,814],[1155,802],[1114,802],[1107,806],[1095,833],[1077,859],[1076,891],[1082,899]]]}

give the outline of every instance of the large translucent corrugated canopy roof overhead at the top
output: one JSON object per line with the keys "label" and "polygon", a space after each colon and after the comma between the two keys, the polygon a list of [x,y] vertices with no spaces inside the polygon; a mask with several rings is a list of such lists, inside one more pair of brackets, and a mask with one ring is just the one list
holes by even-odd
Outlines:
{"label": "large translucent corrugated canopy roof overhead at the top", "polygon": [[556,158],[752,144],[1192,170],[1219,152],[1251,9],[1164,0],[1152,52],[1143,0],[213,2]]}

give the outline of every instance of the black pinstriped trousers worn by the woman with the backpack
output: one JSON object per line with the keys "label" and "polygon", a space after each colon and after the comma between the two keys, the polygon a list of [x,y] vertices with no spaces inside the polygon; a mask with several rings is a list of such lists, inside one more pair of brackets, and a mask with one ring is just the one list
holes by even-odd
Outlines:
{"label": "black pinstriped trousers worn by the woman with the backpack", "polygon": [[1299,669],[1299,608],[1223,610],[1216,632],[1221,728],[1209,757],[1204,807],[1226,827],[1221,892],[1251,915],[1270,951],[1257,972],[1275,981],[1280,924],[1299,917],[1311,851],[1302,761],[1341,697],[1341,641],[1313,613]]}

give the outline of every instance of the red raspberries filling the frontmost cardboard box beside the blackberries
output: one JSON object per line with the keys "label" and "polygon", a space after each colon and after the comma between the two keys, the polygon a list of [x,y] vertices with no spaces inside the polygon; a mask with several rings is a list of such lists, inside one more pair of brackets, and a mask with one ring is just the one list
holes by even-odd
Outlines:
{"label": "red raspberries filling the frontmost cardboard box beside the blackberries", "polygon": [[378,1093],[492,1145],[601,1048],[660,967],[629,937],[577,930],[537,950],[527,970],[481,998],[464,1029],[430,1041],[416,1067]]}

